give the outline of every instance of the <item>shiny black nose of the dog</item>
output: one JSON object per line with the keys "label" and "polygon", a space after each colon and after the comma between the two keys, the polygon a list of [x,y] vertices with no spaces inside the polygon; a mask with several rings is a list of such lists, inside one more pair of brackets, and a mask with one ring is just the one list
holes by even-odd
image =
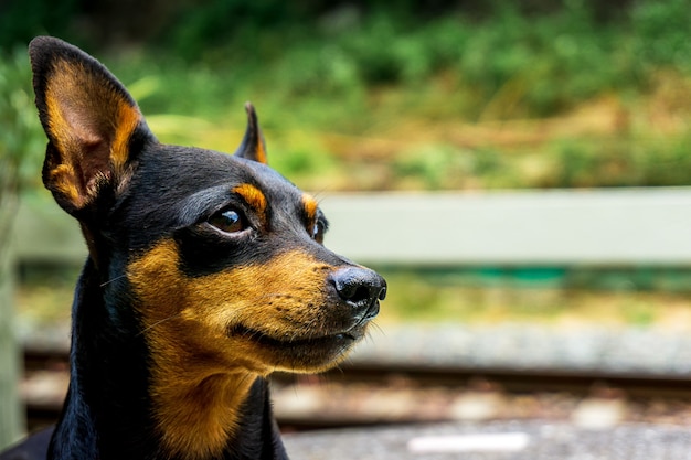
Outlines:
{"label": "shiny black nose of the dog", "polygon": [[379,301],[386,297],[386,281],[368,268],[348,267],[331,274],[331,282],[339,297],[353,308],[360,318],[374,318]]}

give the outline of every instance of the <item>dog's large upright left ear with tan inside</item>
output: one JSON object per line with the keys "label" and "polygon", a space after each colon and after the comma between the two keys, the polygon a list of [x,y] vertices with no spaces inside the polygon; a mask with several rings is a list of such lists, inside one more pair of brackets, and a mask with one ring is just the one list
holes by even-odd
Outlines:
{"label": "dog's large upright left ear with tan inside", "polygon": [[50,36],[29,45],[35,103],[49,145],[43,183],[75,214],[131,174],[136,151],[155,140],[132,97],[99,62]]}

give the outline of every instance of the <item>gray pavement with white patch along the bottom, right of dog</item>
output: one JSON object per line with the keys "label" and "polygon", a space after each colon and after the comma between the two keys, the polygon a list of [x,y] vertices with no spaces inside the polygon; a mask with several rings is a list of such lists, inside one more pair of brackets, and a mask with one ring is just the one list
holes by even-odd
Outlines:
{"label": "gray pavement with white patch along the bottom, right of dog", "polygon": [[327,430],[285,436],[294,460],[691,460],[691,429],[504,421]]}

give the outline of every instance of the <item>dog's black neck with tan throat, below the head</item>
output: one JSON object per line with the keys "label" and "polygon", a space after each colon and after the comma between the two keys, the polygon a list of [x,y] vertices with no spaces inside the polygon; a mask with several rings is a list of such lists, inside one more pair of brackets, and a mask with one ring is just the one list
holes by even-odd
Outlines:
{"label": "dog's black neck with tan throat, below the head", "polygon": [[[128,296],[104,292],[87,261],[73,303],[70,391],[49,459],[287,459],[264,378],[216,375],[152,395],[138,319],[117,304]],[[164,430],[153,416],[161,407],[170,408]]]}

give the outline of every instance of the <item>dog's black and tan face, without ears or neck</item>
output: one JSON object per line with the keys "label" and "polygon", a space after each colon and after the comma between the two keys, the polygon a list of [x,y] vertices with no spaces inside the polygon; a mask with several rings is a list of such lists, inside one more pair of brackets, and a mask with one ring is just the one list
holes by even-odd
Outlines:
{"label": "dog's black and tan face, without ears or neck", "polygon": [[[384,281],[321,245],[327,222],[313,197],[253,160],[155,150],[115,221],[141,238],[127,275],[157,349],[266,374],[327,367],[363,335]],[[176,171],[181,157],[195,165],[193,188]]]}

